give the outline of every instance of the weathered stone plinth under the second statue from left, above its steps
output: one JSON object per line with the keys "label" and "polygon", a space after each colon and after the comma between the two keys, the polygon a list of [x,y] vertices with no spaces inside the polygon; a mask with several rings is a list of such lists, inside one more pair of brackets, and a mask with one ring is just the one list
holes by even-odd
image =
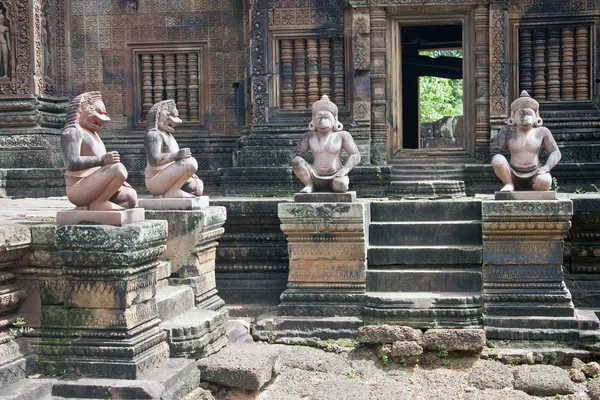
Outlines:
{"label": "weathered stone plinth under the second statue from left, above its steps", "polygon": [[220,309],[225,303],[217,295],[215,256],[227,219],[225,207],[147,210],[146,219],[166,220],[169,224],[167,250],[161,258],[171,262],[171,283],[191,286],[197,307]]}

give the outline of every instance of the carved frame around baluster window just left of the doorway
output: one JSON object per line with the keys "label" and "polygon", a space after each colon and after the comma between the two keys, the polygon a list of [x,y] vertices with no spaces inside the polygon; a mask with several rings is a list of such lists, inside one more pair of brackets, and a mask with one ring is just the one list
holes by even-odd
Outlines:
{"label": "carved frame around baluster window just left of the doorway", "polygon": [[[294,29],[272,29],[268,33],[268,52],[271,55],[270,62],[268,63],[269,68],[269,120],[273,122],[287,121],[290,119],[302,120],[306,122],[306,118],[310,119],[311,111],[310,104],[306,109],[281,109],[281,77],[280,77],[280,48],[279,41],[282,39],[311,39],[311,38],[340,38],[344,41],[344,105],[338,106],[339,119],[343,119],[349,116],[348,104],[351,101],[351,79],[348,74],[348,56],[350,41],[344,35],[343,28],[331,30],[331,29],[315,29],[315,28],[298,28]],[[333,88],[332,88],[333,89]],[[333,101],[333,99],[330,99]]]}

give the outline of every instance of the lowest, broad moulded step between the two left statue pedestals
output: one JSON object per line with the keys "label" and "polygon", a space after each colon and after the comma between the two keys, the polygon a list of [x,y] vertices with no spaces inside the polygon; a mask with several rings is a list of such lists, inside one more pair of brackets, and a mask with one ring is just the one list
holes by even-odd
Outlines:
{"label": "lowest, broad moulded step between the two left statue pedestals", "polygon": [[171,357],[198,359],[216,353],[228,341],[225,322],[227,311],[210,311],[194,308],[160,326],[167,332]]}

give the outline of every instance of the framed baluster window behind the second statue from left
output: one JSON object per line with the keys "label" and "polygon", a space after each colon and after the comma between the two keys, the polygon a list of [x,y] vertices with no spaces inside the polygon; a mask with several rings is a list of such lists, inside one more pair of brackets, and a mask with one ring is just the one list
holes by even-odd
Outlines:
{"label": "framed baluster window behind the second statue from left", "polygon": [[208,113],[205,44],[130,45],[132,83],[128,96],[134,127],[145,127],[150,107],[172,99],[184,124],[204,125]]}

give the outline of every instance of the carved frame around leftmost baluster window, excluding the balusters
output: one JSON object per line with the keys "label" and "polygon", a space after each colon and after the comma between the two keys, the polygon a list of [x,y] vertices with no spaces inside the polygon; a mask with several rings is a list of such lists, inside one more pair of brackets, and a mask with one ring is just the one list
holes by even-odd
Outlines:
{"label": "carved frame around leftmost baluster window, excluding the balusters", "polygon": [[[128,76],[126,110],[128,129],[145,130],[147,122],[142,119],[142,76],[140,56],[143,54],[198,54],[198,121],[184,119],[186,127],[210,130],[210,59],[208,42],[130,42],[126,44],[126,68]],[[171,99],[169,99],[171,100]],[[174,99],[173,99],[174,100]],[[183,118],[182,118],[183,119]]]}

